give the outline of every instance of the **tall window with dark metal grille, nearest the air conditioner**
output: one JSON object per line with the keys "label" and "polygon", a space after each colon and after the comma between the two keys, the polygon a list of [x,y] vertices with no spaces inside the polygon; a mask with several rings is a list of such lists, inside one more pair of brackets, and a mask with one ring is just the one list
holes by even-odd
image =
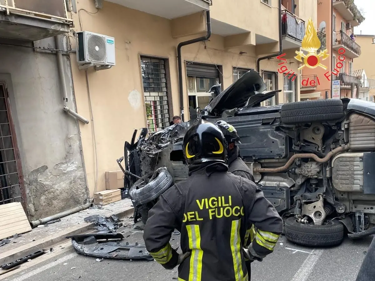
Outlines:
{"label": "tall window with dark metal grille, nearest the air conditioner", "polygon": [[165,61],[160,58],[141,57],[144,102],[148,133],[169,126],[168,93]]}

